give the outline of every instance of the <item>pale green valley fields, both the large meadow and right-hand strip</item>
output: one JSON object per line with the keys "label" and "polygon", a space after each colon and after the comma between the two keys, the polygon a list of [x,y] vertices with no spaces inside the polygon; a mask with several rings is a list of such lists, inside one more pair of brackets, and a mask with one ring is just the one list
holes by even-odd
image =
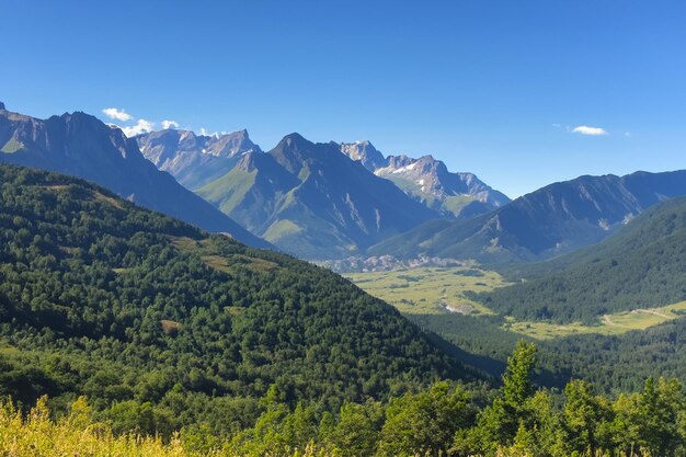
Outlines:
{"label": "pale green valley fields, both the large meadow and right-hand strip", "polygon": [[[476,265],[460,267],[420,267],[393,272],[351,273],[345,275],[370,295],[393,305],[404,315],[494,316],[495,312],[465,296],[468,290],[488,292],[508,283],[496,272]],[[558,324],[542,321],[516,321],[506,317],[502,329],[537,340],[575,334],[615,335],[650,327],[686,315],[686,301],[661,308],[644,308],[606,315],[597,325]],[[445,331],[445,329],[444,329]]]}

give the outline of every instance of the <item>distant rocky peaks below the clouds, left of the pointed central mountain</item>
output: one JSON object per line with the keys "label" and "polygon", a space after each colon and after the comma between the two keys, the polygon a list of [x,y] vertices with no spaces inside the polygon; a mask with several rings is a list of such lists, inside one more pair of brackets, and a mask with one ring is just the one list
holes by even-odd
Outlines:
{"label": "distant rocky peaks below the clouds, left of the pointed central mountain", "polygon": [[191,130],[164,129],[135,137],[142,155],[194,190],[227,173],[241,155],[260,152],[247,130],[216,136]]}

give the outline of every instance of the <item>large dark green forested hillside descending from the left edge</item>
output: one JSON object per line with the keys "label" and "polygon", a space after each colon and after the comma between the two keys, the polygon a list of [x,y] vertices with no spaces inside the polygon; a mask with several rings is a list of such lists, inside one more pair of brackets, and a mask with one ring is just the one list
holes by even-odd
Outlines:
{"label": "large dark green forested hillside descending from the left edge", "polygon": [[465,375],[392,307],[307,262],[38,170],[1,164],[0,205],[3,396],[87,395],[123,430],[230,433],[267,390],[329,409]]}

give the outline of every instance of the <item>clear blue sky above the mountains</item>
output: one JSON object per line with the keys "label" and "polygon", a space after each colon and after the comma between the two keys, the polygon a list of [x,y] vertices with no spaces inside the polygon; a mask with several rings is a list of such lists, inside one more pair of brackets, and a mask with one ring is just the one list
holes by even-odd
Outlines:
{"label": "clear blue sky above the mountains", "polygon": [[0,0],[0,100],[38,117],[369,139],[510,196],[686,169],[683,0]]}

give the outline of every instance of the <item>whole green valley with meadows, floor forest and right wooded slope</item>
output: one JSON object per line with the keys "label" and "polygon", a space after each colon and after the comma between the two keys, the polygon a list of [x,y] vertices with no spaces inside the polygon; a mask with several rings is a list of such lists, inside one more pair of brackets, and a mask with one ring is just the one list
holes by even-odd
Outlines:
{"label": "whole green valley with meadows, floor forest and right wooded slope", "polygon": [[[685,215],[686,198],[664,202],[598,244],[545,263],[502,266],[502,276],[472,264],[468,269],[491,279],[479,288],[450,270],[351,277],[488,373],[498,374],[508,347],[526,338],[538,341],[544,385],[582,378],[606,392],[636,389],[653,373],[686,377]],[[399,277],[422,273],[435,287]],[[444,289],[480,312],[447,311]]]}

